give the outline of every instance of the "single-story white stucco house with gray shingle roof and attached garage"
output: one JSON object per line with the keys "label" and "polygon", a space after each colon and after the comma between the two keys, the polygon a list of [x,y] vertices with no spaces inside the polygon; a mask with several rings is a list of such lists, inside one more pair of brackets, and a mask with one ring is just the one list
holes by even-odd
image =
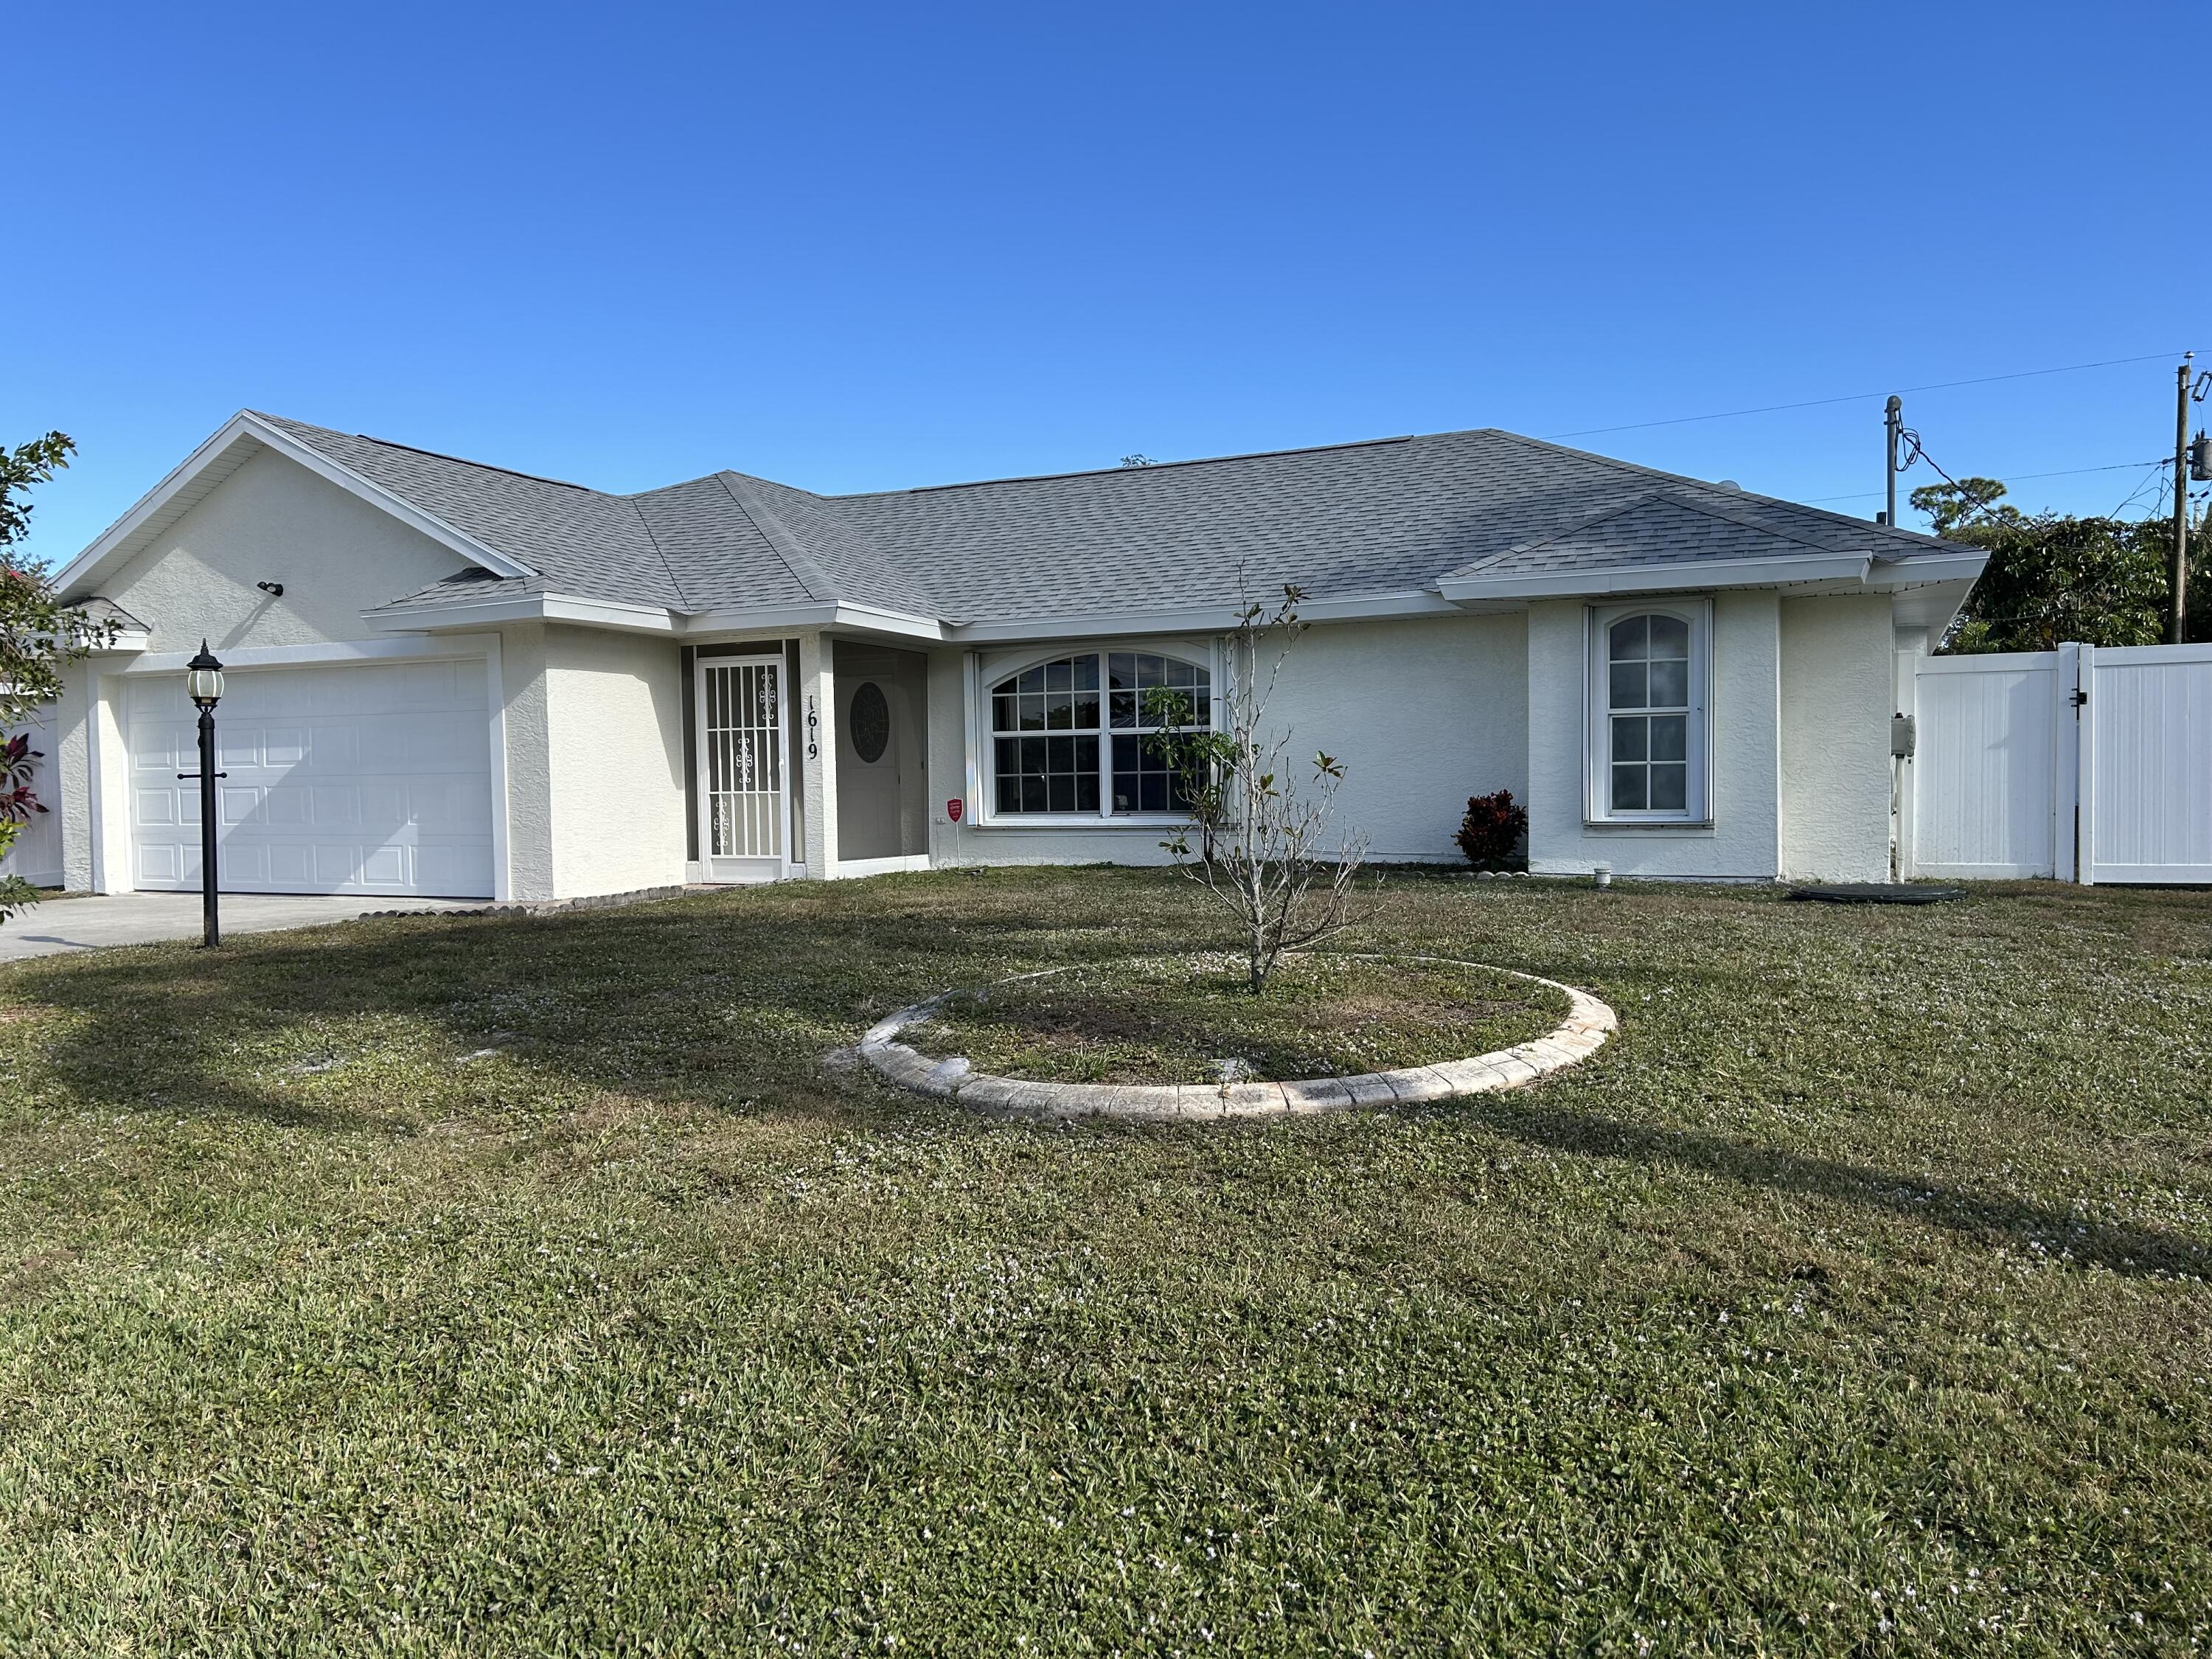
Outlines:
{"label": "single-story white stucco house with gray shingle roof and attached garage", "polygon": [[[71,887],[575,898],[1161,858],[1141,688],[1219,710],[1239,571],[1314,626],[1276,712],[1374,856],[1467,796],[1537,872],[1885,880],[1900,653],[1982,553],[1506,431],[810,495],[639,495],[239,414],[55,575]],[[1219,717],[1219,714],[1214,714]]]}

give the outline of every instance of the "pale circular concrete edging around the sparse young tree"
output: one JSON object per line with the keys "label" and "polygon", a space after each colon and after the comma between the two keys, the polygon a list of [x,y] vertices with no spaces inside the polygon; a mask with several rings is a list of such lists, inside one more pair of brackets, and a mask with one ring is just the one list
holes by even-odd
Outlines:
{"label": "pale circular concrete edging around the sparse young tree", "polygon": [[[1347,956],[1352,956],[1347,951]],[[960,989],[938,991],[933,998],[900,1009],[889,1020],[878,1020],[860,1037],[858,1055],[878,1075],[909,1088],[916,1095],[956,1099],[962,1106],[1004,1115],[1040,1117],[1062,1121],[1073,1117],[1126,1117],[1141,1121],[1223,1121],[1232,1117],[1307,1117],[1314,1113],[1343,1113],[1354,1106],[1405,1106],[1416,1102],[1451,1099],[1455,1095],[1491,1095],[1500,1088],[1522,1088],[1537,1077],[1575,1066],[1599,1048],[1606,1037],[1619,1031],[1619,1015],[1588,991],[1559,984],[1537,973],[1500,969],[1486,962],[1460,962],[1451,956],[1396,956],[1402,962],[1447,962],[1451,967],[1473,967],[1489,973],[1506,973],[1528,984],[1544,984],[1566,993],[1566,1020],[1533,1042],[1517,1042],[1471,1060],[1442,1060],[1433,1066],[1400,1066],[1398,1071],[1369,1071],[1358,1077],[1305,1077],[1290,1084],[1042,1084],[1020,1077],[993,1077],[975,1071],[964,1057],[951,1055],[933,1060],[898,1042],[898,1033],[927,1020],[938,1006]],[[1385,960],[1383,953],[1358,953],[1360,960]],[[1044,973],[1018,973],[998,984],[1020,980],[1042,980],[1048,973],[1068,969],[1046,969]]]}

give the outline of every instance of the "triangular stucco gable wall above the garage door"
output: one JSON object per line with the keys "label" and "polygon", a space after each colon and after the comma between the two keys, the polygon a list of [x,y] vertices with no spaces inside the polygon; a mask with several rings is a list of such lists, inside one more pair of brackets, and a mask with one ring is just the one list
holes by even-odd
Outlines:
{"label": "triangular stucco gable wall above the garage door", "polygon": [[[91,591],[144,622],[150,650],[208,639],[223,655],[369,637],[363,611],[458,568],[451,549],[261,451]],[[281,582],[283,597],[254,582]]]}

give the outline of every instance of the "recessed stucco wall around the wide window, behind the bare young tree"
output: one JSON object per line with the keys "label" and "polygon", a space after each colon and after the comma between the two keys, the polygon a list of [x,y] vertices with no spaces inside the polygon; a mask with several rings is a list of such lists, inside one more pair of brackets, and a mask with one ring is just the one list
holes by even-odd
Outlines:
{"label": "recessed stucco wall around the wide window, behind the bare young tree", "polygon": [[[1068,641],[1073,644],[1073,641]],[[1108,648],[1128,641],[1104,641]],[[1203,655],[1208,641],[1183,641]],[[982,695],[1013,653],[984,657]],[[969,821],[953,825],[951,796],[967,794],[964,653],[929,661],[929,807],[938,863],[1161,863],[1157,825],[980,827],[989,757],[978,757]],[[1458,860],[1453,834],[1467,796],[1528,787],[1526,630],[1520,615],[1334,622],[1292,648],[1270,721],[1290,730],[1290,752],[1310,763],[1327,750],[1345,763],[1338,818],[1367,832],[1374,858]]]}

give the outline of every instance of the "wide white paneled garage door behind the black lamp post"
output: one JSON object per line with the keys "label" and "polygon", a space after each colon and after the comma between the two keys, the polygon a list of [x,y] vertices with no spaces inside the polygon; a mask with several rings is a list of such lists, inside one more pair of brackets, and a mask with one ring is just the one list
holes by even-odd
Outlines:
{"label": "wide white paneled garage door behind the black lamp post", "polygon": [[[491,896],[482,659],[254,668],[217,708],[221,885],[239,894]],[[197,710],[135,679],[131,854],[139,887],[199,887]]]}

